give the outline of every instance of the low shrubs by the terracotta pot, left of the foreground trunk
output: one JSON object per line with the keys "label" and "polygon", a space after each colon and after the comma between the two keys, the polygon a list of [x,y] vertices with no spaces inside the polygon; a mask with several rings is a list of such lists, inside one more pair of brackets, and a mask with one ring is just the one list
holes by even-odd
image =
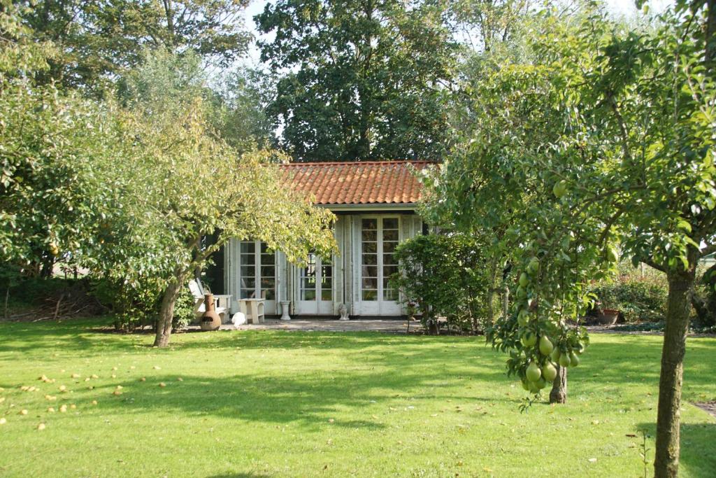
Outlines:
{"label": "low shrubs by the terracotta pot, left of the foreground trunk", "polygon": [[616,309],[627,322],[663,321],[667,312],[667,289],[639,280],[616,281],[591,288],[596,305]]}

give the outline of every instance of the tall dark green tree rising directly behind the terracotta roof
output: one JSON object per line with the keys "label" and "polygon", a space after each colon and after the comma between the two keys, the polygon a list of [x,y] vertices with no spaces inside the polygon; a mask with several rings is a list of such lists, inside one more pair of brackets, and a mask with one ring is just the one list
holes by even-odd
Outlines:
{"label": "tall dark green tree rising directly behind the terracotta roof", "polygon": [[300,161],[437,159],[455,44],[432,2],[279,0],[256,16],[269,115]]}

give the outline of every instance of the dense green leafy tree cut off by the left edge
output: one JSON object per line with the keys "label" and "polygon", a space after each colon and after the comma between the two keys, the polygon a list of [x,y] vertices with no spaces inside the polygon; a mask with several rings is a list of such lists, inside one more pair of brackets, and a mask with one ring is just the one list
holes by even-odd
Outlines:
{"label": "dense green leafy tree cut off by the left edge", "polygon": [[76,260],[89,247],[104,214],[110,190],[92,163],[119,161],[125,148],[112,108],[32,81],[54,49],[32,40],[19,7],[0,16],[0,258],[48,277],[57,257]]}

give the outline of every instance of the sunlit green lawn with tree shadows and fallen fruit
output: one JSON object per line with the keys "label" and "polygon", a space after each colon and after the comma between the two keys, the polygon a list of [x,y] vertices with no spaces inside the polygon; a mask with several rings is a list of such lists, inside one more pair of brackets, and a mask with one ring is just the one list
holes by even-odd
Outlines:
{"label": "sunlit green lawn with tree shadows and fallen fruit", "polygon": [[[654,433],[655,336],[593,335],[569,403],[520,414],[525,394],[481,338],[231,331],[155,350],[97,325],[0,324],[0,475],[640,477],[627,435]],[[715,353],[689,340],[684,477],[716,469],[716,421],[688,403],[716,398]],[[62,404],[76,408],[47,411]]]}

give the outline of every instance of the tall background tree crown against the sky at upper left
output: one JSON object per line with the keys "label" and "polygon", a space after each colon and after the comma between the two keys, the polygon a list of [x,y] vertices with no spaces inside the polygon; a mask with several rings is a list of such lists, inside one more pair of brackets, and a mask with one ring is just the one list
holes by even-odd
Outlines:
{"label": "tall background tree crown against the sky at upper left", "polygon": [[85,88],[100,95],[118,75],[142,61],[145,48],[195,52],[226,67],[246,52],[248,1],[40,0],[18,1],[37,38],[57,45],[41,82]]}

